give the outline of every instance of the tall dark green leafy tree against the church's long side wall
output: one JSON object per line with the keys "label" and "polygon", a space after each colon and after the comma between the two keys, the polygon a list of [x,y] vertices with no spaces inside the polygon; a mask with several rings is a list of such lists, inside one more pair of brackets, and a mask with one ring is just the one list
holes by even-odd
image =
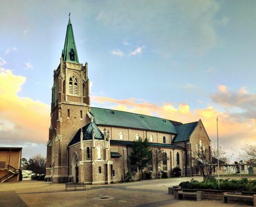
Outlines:
{"label": "tall dark green leafy tree against the church's long side wall", "polygon": [[138,141],[133,141],[132,152],[129,156],[132,166],[139,168],[140,179],[142,178],[142,170],[149,164],[152,159],[152,150],[147,138],[143,141],[140,137]]}

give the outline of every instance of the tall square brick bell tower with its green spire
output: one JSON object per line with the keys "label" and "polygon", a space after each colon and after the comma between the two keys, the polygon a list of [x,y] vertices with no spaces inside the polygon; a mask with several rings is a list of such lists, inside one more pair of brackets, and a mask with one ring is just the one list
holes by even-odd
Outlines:
{"label": "tall square brick bell tower with its green spire", "polygon": [[47,142],[46,181],[68,181],[68,144],[79,128],[89,122],[88,64],[80,64],[71,20],[66,28],[60,64],[53,71],[51,124]]}

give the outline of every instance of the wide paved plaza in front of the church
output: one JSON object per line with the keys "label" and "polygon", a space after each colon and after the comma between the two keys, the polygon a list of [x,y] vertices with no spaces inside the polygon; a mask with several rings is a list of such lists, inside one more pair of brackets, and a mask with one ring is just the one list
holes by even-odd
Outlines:
{"label": "wide paved plaza in front of the church", "polygon": [[[168,195],[168,187],[190,179],[171,178],[101,186],[88,185],[85,191],[71,189],[65,191],[65,184],[41,181],[2,183],[0,184],[0,206],[241,206],[238,203],[223,204],[221,201],[174,200],[173,196]],[[196,180],[202,180],[202,178],[197,177]]]}

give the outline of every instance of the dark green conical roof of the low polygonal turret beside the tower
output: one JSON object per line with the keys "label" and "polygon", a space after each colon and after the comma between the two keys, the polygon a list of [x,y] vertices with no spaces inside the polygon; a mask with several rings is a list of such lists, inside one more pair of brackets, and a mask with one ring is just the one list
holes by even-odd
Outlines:
{"label": "dark green conical roof of the low polygonal turret beside the tower", "polygon": [[[89,124],[87,124],[86,126],[84,126],[82,128],[83,129],[83,140],[91,140],[92,139],[92,128],[93,127],[95,128],[95,139],[104,140],[104,135],[102,134],[100,129],[96,126],[96,124],[93,122],[90,122]],[[75,136],[69,143],[69,146],[80,141],[80,133],[81,133],[81,129],[78,129]]]}

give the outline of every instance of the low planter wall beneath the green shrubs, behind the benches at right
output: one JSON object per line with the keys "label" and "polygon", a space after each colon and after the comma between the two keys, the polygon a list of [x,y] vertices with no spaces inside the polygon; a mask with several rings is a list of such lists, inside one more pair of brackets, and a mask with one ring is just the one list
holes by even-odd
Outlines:
{"label": "low planter wall beneath the green shrubs, behind the benches at right", "polygon": [[[173,186],[172,193],[174,194],[174,198],[178,199],[178,190],[183,190],[184,192],[196,192],[202,191],[202,199],[203,200],[223,200],[223,193],[231,193],[231,194],[240,194],[240,195],[254,195],[256,192],[237,192],[233,190],[211,190],[211,189],[184,189],[180,186]],[[190,196],[184,196],[184,199],[192,200],[193,198]],[[246,203],[246,204],[253,204],[250,199],[229,199],[231,202],[239,202],[239,203]]]}

